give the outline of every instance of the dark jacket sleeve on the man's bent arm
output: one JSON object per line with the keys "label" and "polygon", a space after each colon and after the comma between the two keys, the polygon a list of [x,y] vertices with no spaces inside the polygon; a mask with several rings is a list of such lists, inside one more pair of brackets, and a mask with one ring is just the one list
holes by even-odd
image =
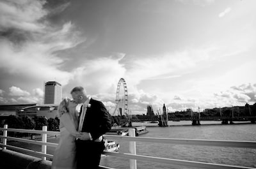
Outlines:
{"label": "dark jacket sleeve on the man's bent arm", "polygon": [[104,135],[112,127],[112,117],[102,102],[99,102],[99,114],[99,130],[90,133],[93,140],[96,140],[97,138],[99,138],[99,136]]}

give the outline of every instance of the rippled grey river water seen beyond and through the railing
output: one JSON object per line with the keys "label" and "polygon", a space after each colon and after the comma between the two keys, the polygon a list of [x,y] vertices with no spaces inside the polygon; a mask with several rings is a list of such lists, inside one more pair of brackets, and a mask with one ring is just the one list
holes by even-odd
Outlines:
{"label": "rippled grey river water seen beyond and through the railing", "polygon": [[[156,124],[147,123],[137,123],[137,126],[151,125],[147,127],[149,131],[147,134],[140,135],[143,137],[256,141],[256,124],[221,125],[220,121],[202,121],[200,126],[191,126],[191,121],[168,122],[168,124],[170,127],[166,128],[152,127]],[[115,142],[120,143],[118,152],[129,153],[129,142],[124,140],[115,140]],[[256,149],[136,142],[136,152],[145,156],[256,167]],[[100,165],[126,169],[129,168],[129,159],[102,157]],[[188,167],[137,160],[137,168],[186,169]]]}

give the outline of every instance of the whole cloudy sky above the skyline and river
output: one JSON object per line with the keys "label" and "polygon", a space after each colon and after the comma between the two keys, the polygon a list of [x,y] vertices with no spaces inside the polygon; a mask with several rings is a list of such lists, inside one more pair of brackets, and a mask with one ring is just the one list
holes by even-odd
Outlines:
{"label": "whole cloudy sky above the skyline and river", "polygon": [[[0,105],[83,86],[112,114],[120,78],[131,114],[256,102],[254,0],[0,1]],[[124,96],[121,85],[120,98]]]}

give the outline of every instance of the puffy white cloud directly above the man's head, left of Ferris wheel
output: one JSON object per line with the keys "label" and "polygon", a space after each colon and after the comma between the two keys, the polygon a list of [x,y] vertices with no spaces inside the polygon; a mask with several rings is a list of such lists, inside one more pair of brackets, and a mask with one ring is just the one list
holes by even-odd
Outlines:
{"label": "puffy white cloud directly above the man's head, left of Ferris wheel", "polygon": [[118,80],[125,74],[125,68],[119,61],[120,57],[110,56],[81,62],[82,66],[71,72],[73,77],[65,90],[71,91],[74,86],[81,85],[90,94],[110,92],[115,96]]}

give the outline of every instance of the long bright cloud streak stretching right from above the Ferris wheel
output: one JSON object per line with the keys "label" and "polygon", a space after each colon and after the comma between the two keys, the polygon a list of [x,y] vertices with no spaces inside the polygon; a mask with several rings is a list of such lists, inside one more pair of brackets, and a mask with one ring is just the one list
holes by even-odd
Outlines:
{"label": "long bright cloud streak stretching right from above the Ferris wheel", "polygon": [[[184,73],[198,68],[200,62],[210,57],[209,53],[214,48],[188,48],[178,52],[165,53],[150,56],[126,55],[121,61],[125,64],[126,77],[133,85],[140,84],[142,80],[157,80],[166,78],[177,78]],[[129,65],[129,66],[126,66]],[[194,69],[193,69],[194,68]]]}

